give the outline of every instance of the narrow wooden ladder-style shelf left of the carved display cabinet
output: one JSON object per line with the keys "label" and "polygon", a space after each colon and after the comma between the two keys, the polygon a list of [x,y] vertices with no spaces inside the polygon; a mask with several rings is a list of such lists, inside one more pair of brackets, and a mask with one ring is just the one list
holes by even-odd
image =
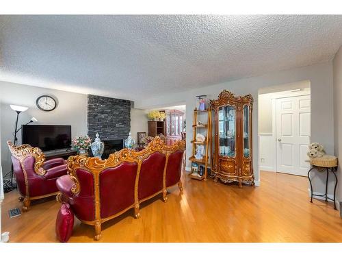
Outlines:
{"label": "narrow wooden ladder-style shelf left of the carved display cabinet", "polygon": [[[207,124],[203,124],[203,125],[197,125],[197,121],[198,121],[198,114],[207,114]],[[202,115],[202,117],[204,118],[205,116]],[[194,124],[192,125],[192,129],[193,129],[193,140],[191,141],[192,143],[192,156],[189,158],[189,160],[191,161],[191,167],[193,162],[196,162],[197,164],[202,164],[205,166],[205,171],[203,173],[202,176],[198,176],[198,175],[193,175],[192,173],[189,174],[190,178],[193,178],[194,180],[207,180],[208,177],[208,167],[211,167],[211,163],[209,162],[209,153],[211,153],[211,151],[209,151],[209,147],[211,149],[211,108],[207,108],[207,110],[194,110]],[[196,134],[198,133],[198,130],[201,130],[201,134],[203,134],[203,132],[206,131],[206,138],[204,142],[198,142],[196,141]],[[196,147],[197,145],[204,145],[205,146],[205,155],[203,156],[203,158],[201,160],[198,160],[195,158],[196,155]]]}

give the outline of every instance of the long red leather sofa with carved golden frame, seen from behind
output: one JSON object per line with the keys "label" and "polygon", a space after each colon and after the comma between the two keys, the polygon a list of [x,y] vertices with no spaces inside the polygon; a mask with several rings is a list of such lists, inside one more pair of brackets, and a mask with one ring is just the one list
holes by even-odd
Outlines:
{"label": "long red leather sofa with carved golden frame, seen from behind", "polygon": [[101,238],[101,223],[134,208],[139,218],[142,201],[178,185],[182,191],[181,166],[185,142],[167,146],[155,138],[146,149],[122,149],[107,160],[70,156],[68,175],[57,179],[57,200],[70,204],[76,217],[94,225],[95,240]]}

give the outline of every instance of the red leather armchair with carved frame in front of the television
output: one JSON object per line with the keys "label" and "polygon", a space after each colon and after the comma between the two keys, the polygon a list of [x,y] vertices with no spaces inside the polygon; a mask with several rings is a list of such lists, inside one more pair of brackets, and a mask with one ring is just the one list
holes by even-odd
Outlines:
{"label": "red leather armchair with carved frame in front of the television", "polygon": [[7,141],[12,154],[12,163],[19,200],[23,201],[23,211],[27,211],[31,200],[56,195],[57,178],[66,175],[66,160],[55,158],[45,161],[42,150],[31,145],[13,145]]}

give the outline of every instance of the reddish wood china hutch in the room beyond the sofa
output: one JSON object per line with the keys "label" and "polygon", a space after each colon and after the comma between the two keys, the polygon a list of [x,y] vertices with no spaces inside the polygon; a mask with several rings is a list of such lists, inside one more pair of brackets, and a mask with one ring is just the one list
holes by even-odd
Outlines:
{"label": "reddish wood china hutch in the room beyond the sofa", "polygon": [[166,110],[166,144],[172,145],[182,139],[184,112],[180,110]]}

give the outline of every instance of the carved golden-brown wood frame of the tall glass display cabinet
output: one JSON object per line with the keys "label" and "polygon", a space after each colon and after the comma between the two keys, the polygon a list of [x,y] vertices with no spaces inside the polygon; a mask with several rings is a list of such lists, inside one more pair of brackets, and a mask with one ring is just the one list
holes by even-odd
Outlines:
{"label": "carved golden-brown wood frame of the tall glass display cabinet", "polygon": [[[241,113],[241,110],[244,108],[244,106],[249,107],[249,117],[250,117],[250,128],[249,128],[249,134],[250,134],[250,169],[251,171],[253,170],[252,167],[252,109],[253,109],[253,97],[252,95],[248,94],[245,95],[244,97],[241,96],[235,96],[233,93],[229,92],[228,90],[223,90],[220,95],[218,96],[218,99],[215,100],[210,100],[210,105],[212,110],[215,113],[215,181],[217,181],[217,178],[220,178],[223,182],[239,182],[239,186],[241,186],[241,182],[249,182],[250,184],[254,184],[254,174],[252,175],[245,175],[245,171],[239,170],[237,171],[238,175],[224,175],[220,173],[219,165],[220,165],[220,157],[218,154],[218,147],[219,147],[219,138],[218,138],[218,110],[222,106],[227,106],[227,105],[233,105],[236,106],[237,109],[237,115],[238,113]],[[237,130],[241,130],[242,127],[237,127]],[[242,130],[241,130],[242,131]],[[224,157],[222,157],[224,159]],[[246,162],[246,159],[243,156],[236,156],[235,158],[231,159],[236,162],[241,162],[243,164]],[[249,162],[249,160],[248,160]],[[246,164],[247,166],[247,164]],[[237,167],[237,165],[236,165]]]}

